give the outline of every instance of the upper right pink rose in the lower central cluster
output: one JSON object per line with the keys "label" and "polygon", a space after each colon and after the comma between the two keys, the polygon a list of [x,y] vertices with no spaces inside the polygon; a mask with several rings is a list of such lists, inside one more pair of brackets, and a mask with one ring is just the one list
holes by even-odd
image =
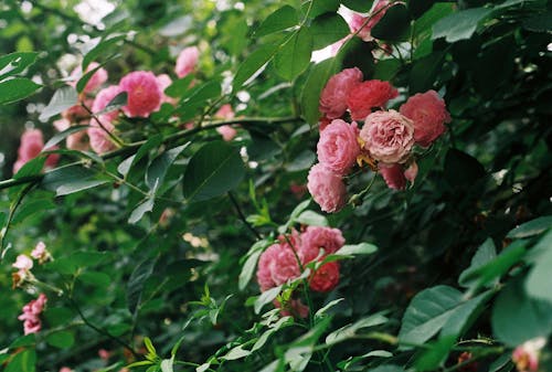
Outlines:
{"label": "upper right pink rose in the lower central cluster", "polygon": [[321,248],[326,256],[336,253],[343,244],[343,234],[339,228],[308,226],[301,234],[298,254],[306,265],[318,257]]}

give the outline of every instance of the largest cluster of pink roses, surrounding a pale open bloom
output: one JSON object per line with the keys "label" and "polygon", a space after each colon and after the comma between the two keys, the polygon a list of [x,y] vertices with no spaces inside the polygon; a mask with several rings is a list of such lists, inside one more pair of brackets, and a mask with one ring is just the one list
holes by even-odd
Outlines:
{"label": "largest cluster of pink roses, surrounding a pale open bloom", "polygon": [[[320,96],[319,163],[308,176],[308,189],[325,212],[337,212],[347,203],[343,178],[355,163],[378,170],[386,184],[402,190],[414,182],[417,164],[415,145],[432,145],[450,121],[445,102],[435,91],[415,94],[399,111],[386,109],[399,92],[389,82],[363,81],[362,72],[346,68],[333,75]],[[359,128],[357,121],[364,121]]]}

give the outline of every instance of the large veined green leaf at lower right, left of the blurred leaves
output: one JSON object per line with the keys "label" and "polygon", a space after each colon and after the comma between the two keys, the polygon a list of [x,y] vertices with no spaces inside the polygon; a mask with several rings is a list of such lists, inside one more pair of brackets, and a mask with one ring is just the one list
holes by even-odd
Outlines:
{"label": "large veined green leaf at lower right, left of the blurred leaves", "polygon": [[461,293],[436,286],[417,294],[404,312],[399,342],[422,344],[435,336],[461,302]]}

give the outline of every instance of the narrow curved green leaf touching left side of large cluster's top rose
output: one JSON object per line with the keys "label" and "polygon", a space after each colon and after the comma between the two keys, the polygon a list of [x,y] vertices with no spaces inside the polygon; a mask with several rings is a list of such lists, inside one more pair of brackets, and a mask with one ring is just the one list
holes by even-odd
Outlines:
{"label": "narrow curved green leaf touching left side of large cluster's top rose", "polygon": [[308,124],[314,125],[320,119],[321,115],[318,109],[320,93],[337,70],[336,59],[322,61],[310,68],[301,93],[301,111]]}

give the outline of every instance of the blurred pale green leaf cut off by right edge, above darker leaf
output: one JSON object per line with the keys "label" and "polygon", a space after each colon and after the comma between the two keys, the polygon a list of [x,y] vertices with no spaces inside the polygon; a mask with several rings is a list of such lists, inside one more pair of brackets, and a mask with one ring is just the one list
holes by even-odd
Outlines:
{"label": "blurred pale green leaf cut off by right edge, above darker leaf", "polygon": [[[533,220],[537,221],[537,220]],[[520,226],[521,227],[521,226]],[[551,275],[552,267],[552,231],[545,234],[539,242],[542,252],[539,252],[534,266],[529,272],[526,280],[526,294],[535,299],[546,300],[552,304]],[[533,251],[538,247],[533,247]]]}

